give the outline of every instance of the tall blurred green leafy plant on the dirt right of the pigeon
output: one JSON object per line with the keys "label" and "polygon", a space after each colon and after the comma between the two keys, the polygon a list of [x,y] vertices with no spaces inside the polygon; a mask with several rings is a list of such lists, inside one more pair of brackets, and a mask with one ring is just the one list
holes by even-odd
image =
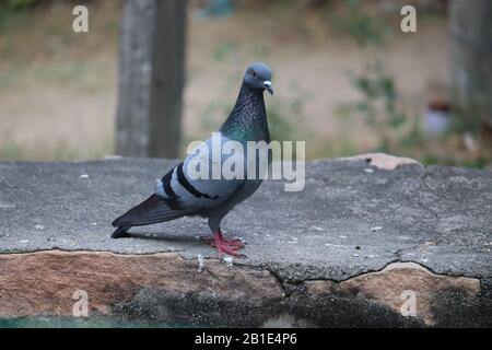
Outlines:
{"label": "tall blurred green leafy plant on the dirt right of the pigeon", "polygon": [[364,49],[365,69],[358,74],[348,74],[360,92],[361,101],[341,106],[339,113],[365,119],[378,139],[374,151],[397,152],[412,148],[423,140],[419,118],[410,117],[401,106],[395,78],[386,70],[382,54],[385,39],[390,35],[389,25],[385,19],[367,14],[359,0],[345,0],[345,4],[349,14],[337,25]]}

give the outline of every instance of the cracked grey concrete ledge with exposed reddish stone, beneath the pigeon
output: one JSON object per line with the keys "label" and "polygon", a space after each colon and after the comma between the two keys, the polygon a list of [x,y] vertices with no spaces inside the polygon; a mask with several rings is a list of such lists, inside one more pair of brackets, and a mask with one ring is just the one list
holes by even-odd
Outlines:
{"label": "cracked grey concrete ledge with exposed reddish stone, beneath the pigeon", "polygon": [[267,182],[227,217],[248,243],[230,265],[196,218],[109,238],[173,164],[0,162],[0,317],[70,316],[84,290],[90,317],[151,323],[492,326],[490,173],[385,154],[308,162],[305,190]]}

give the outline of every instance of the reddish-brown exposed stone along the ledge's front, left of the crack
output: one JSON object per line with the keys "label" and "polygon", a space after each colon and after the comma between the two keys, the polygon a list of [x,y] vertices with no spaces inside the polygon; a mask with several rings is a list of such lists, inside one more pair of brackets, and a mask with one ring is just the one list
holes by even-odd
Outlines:
{"label": "reddish-brown exposed stone along the ledge's front, left of the crack", "polygon": [[[226,300],[249,313],[283,296],[280,283],[268,271],[230,268],[207,259],[200,272],[197,264],[176,253],[139,256],[49,250],[0,255],[0,317],[71,316],[80,290],[89,296],[89,313],[102,315],[112,315],[115,306],[131,302],[143,289],[165,291],[178,299]],[[173,320],[180,320],[176,316]]]}

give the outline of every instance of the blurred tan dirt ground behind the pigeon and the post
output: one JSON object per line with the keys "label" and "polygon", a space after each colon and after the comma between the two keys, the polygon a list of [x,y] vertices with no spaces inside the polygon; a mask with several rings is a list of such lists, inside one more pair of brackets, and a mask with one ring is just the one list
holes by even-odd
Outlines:
{"label": "blurred tan dirt ground behind the pigeon and the post", "polygon": [[[55,2],[10,21],[0,31],[0,159],[80,160],[113,154],[120,2],[94,2],[90,33],[71,31],[71,5]],[[298,7],[298,5],[297,5]],[[330,11],[332,13],[330,13]],[[398,18],[398,11],[395,11]],[[254,4],[232,16],[200,19],[190,9],[185,91],[185,140],[206,137],[226,117],[245,67],[273,68],[268,108],[303,130],[311,156],[374,145],[363,120],[337,107],[360,96],[347,77],[364,69],[364,50],[337,33],[337,9]],[[444,18],[423,19],[418,32],[397,27],[382,48],[405,103],[420,116],[449,83]],[[300,108],[289,108],[295,104]],[[294,131],[295,132],[295,131]],[[345,150],[347,152],[347,150]]]}

